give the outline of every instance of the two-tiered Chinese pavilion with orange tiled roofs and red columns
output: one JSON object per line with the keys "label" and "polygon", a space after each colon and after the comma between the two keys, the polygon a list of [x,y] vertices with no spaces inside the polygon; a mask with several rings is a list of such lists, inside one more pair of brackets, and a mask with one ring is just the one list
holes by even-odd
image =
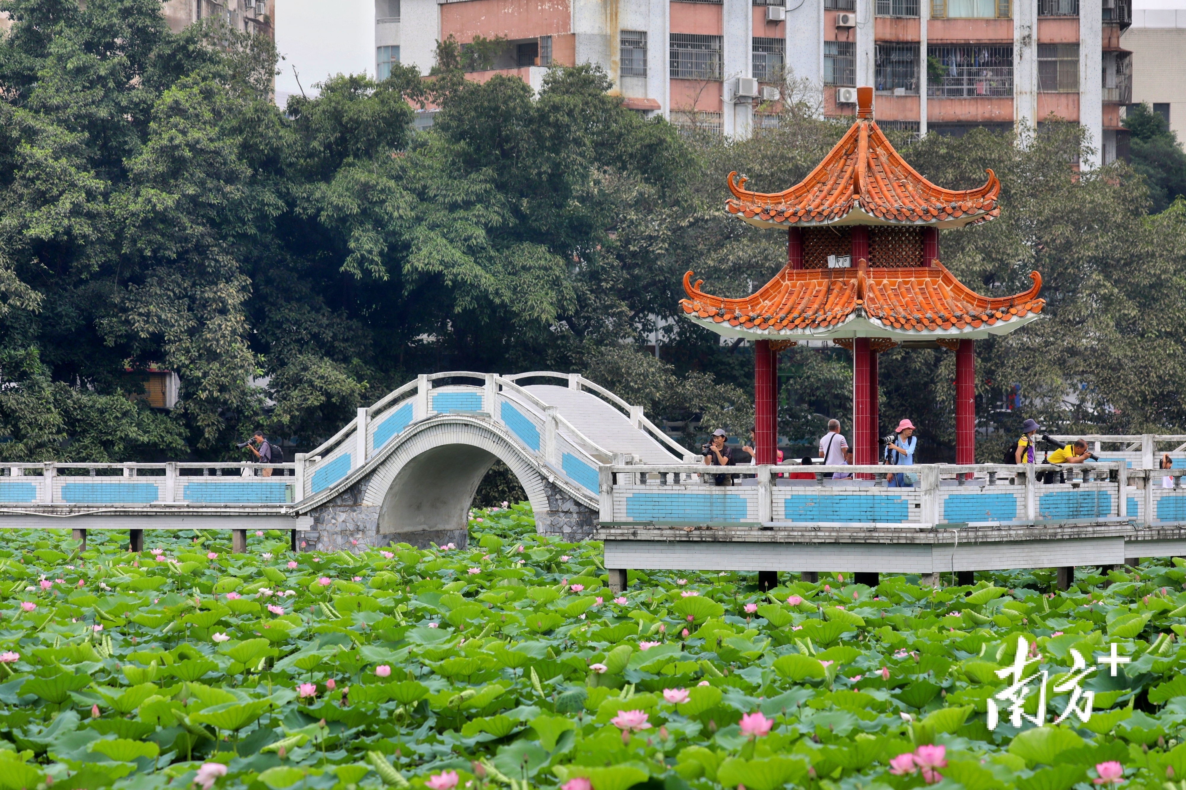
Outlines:
{"label": "two-tiered Chinese pavilion with orange tiled roofs and red columns", "polygon": [[[898,345],[956,352],[956,463],[975,461],[976,339],[1033,321],[1041,276],[1024,294],[989,298],[939,263],[940,227],[1000,214],[1001,182],[935,186],[894,150],[873,120],[873,89],[857,88],[856,122],[811,173],[784,192],[746,191],[729,174],[725,208],[755,227],[786,229],[786,265],[758,293],[710,296],[684,275],[693,321],[754,342],[754,449],[773,463],[778,352],[798,340],[831,340],[853,353],[853,461],[876,463],[878,354]],[[904,415],[905,416],[905,415]],[[897,419],[897,418],[895,418]]]}

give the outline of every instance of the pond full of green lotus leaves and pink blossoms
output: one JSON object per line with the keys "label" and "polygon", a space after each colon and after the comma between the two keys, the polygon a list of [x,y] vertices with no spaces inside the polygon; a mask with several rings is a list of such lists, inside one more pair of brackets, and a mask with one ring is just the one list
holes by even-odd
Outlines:
{"label": "pond full of green lotus leaves and pink blossoms", "polygon": [[358,554],[8,534],[0,790],[1186,790],[1180,560],[616,596],[599,544],[473,515]]}

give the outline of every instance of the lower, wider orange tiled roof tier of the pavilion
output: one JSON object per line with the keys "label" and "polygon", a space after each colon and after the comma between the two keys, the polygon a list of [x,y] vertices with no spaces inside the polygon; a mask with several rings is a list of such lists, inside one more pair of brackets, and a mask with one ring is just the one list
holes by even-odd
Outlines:
{"label": "lower, wider orange tiled roof tier of the pavilion", "polygon": [[926,268],[871,269],[862,258],[852,269],[783,269],[757,294],[722,298],[700,290],[703,281],[683,276],[684,314],[728,336],[764,339],[943,336],[1005,334],[1038,317],[1041,275],[1015,296],[981,296],[938,261]]}

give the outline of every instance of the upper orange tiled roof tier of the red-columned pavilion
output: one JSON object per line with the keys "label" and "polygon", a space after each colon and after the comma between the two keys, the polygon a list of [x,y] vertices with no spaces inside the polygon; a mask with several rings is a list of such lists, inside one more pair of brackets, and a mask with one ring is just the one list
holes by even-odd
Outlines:
{"label": "upper orange tiled roof tier of the red-columned pavilion", "polygon": [[933,225],[961,227],[995,219],[1001,182],[987,171],[976,190],[937,187],[906,163],[872,117],[859,117],[810,174],[783,192],[746,191],[729,173],[725,208],[758,227]]}

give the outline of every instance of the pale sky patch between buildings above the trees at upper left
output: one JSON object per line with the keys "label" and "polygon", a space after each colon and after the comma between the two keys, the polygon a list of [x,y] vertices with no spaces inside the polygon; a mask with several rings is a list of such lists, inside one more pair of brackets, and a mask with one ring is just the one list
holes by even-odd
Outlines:
{"label": "pale sky patch between buildings above the trees at upper left", "polygon": [[[1186,0],[1182,0],[1186,2]],[[278,94],[306,95],[329,75],[375,73],[374,0],[276,0]]]}

